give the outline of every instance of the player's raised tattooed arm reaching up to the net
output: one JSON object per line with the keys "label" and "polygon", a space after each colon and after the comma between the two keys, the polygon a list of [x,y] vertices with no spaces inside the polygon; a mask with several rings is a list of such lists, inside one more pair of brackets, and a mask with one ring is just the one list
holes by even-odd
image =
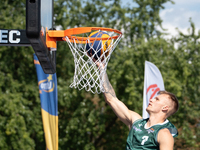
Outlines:
{"label": "player's raised tattooed arm reaching up to the net", "polygon": [[140,119],[141,116],[138,113],[129,110],[123,102],[118,100],[118,98],[116,97],[115,91],[108,80],[108,76],[106,73],[103,76],[103,81],[104,81],[103,87],[105,89],[105,92],[104,92],[105,101],[107,102],[108,105],[110,105],[110,107],[112,108],[114,113],[117,115],[117,117],[123,123],[125,123],[130,129],[133,122],[137,119]]}

